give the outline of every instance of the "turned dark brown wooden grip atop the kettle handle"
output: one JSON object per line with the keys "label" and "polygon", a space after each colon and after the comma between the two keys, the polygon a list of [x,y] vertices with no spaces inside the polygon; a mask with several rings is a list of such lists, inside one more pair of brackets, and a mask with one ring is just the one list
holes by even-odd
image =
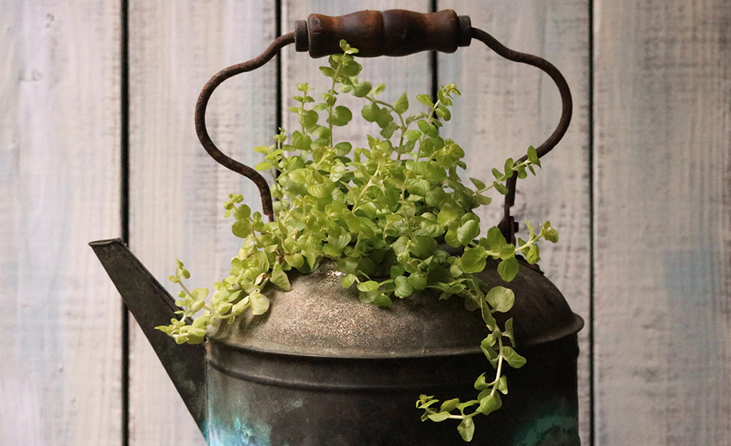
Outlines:
{"label": "turned dark brown wooden grip atop the kettle handle", "polygon": [[313,58],[341,53],[345,39],[360,57],[406,56],[420,51],[454,53],[469,45],[471,24],[452,10],[360,11],[348,15],[311,14],[295,23],[295,48]]}

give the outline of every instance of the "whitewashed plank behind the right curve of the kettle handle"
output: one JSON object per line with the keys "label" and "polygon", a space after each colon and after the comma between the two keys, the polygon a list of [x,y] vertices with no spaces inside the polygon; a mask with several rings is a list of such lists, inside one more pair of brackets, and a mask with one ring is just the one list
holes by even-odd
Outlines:
{"label": "whitewashed plank behind the right curve of the kettle handle", "polygon": [[[507,47],[547,59],[571,87],[574,114],[567,135],[545,156],[537,177],[518,181],[512,208],[520,230],[525,219],[548,220],[561,240],[541,245],[540,266],[588,322],[590,302],[590,216],[588,153],[588,1],[439,1],[439,9],[469,15],[472,26],[487,31]],[[489,181],[491,169],[517,159],[553,132],[561,116],[561,98],[548,75],[539,69],[501,58],[482,42],[453,54],[439,54],[439,84],[456,83],[455,101],[444,134],[466,152],[472,176]],[[503,197],[478,209],[485,226],[502,219]],[[525,236],[524,236],[525,238]],[[589,437],[589,327],[579,333],[580,437]]]}

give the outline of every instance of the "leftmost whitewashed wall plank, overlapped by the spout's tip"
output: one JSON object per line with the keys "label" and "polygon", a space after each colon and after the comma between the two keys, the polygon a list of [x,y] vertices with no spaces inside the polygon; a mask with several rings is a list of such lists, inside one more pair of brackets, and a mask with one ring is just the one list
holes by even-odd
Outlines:
{"label": "leftmost whitewashed wall plank, overlapped by the spout's tip", "polygon": [[117,1],[0,5],[0,445],[121,445]]}

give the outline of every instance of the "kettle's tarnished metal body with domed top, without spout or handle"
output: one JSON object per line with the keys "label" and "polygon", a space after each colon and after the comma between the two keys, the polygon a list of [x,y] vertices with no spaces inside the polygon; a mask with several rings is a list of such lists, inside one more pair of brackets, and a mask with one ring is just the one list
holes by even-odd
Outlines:
{"label": "kettle's tarnished metal body with domed top, without spout or handle", "polygon": [[[480,417],[474,444],[575,446],[576,332],[583,320],[556,287],[521,261],[506,284],[488,263],[480,279],[515,291],[518,352],[503,407]],[[223,324],[208,356],[211,445],[463,445],[454,426],[422,423],[420,393],[474,398],[474,379],[494,373],[480,351],[487,335],[461,298],[423,292],[390,309],[344,290],[332,263],[267,290],[268,314]]]}

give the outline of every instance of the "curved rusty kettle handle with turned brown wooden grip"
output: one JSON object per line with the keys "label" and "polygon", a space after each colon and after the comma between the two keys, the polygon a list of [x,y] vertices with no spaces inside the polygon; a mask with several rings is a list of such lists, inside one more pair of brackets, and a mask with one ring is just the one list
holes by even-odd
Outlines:
{"label": "curved rusty kettle handle with turned brown wooden grip", "polygon": [[[471,39],[477,39],[510,61],[528,64],[541,69],[556,83],[561,94],[561,118],[553,133],[536,148],[538,157],[547,154],[566,134],[572,116],[571,91],[566,79],[549,61],[538,56],[520,53],[502,45],[490,34],[471,26],[466,15],[458,16],[452,10],[421,13],[405,10],[360,11],[348,15],[332,17],[311,14],[307,20],[295,23],[295,32],[278,37],[260,56],[240,64],[227,67],[213,75],[205,84],[195,105],[195,130],[205,151],[216,162],[246,176],[259,188],[262,197],[262,210],[274,220],[272,198],[265,178],[247,165],[223,154],[213,143],[205,126],[205,110],[213,90],[224,80],[243,72],[253,71],[270,61],[281,48],[295,43],[298,51],[309,51],[317,58],[336,54],[341,51],[340,39],[359,49],[358,56],[406,56],[420,51],[436,50],[453,53],[458,47],[469,46]],[[518,162],[527,159],[523,155]],[[508,193],[505,196],[504,217],[499,227],[508,241],[515,241],[518,223],[510,215],[510,207],[515,204],[515,186],[518,175],[507,180]]]}

